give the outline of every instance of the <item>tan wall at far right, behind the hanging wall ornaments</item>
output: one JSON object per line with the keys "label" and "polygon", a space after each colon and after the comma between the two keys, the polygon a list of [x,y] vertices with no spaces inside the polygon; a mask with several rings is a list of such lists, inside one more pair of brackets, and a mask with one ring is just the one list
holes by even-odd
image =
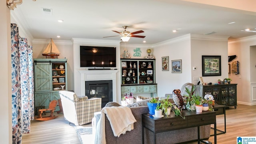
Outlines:
{"label": "tan wall at far right, behind the hanging wall ornaments", "polygon": [[[256,36],[248,36],[231,40],[228,42],[228,55],[236,55],[236,61],[239,61],[240,74],[230,74],[232,83],[237,86],[237,102],[240,104],[256,105],[256,81],[251,81],[251,69],[254,69],[254,64],[251,66],[250,47],[256,46]],[[253,56],[255,57],[255,56]],[[234,61],[233,60],[233,61]],[[232,62],[233,62],[232,61]],[[255,75],[255,73],[252,73]],[[254,78],[252,78],[254,80]],[[253,100],[254,99],[254,100]]]}

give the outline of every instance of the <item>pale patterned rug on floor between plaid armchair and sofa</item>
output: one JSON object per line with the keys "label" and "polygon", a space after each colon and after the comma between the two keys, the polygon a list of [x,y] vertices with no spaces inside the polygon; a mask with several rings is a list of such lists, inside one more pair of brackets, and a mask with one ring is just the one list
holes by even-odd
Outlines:
{"label": "pale patterned rug on floor between plaid armchair and sofa", "polygon": [[74,126],[81,144],[94,144],[92,127]]}

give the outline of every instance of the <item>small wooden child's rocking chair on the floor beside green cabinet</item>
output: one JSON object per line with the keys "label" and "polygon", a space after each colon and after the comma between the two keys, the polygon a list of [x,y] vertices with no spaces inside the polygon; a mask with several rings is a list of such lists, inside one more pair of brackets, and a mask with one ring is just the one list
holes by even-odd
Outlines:
{"label": "small wooden child's rocking chair on the floor beside green cabinet", "polygon": [[[48,109],[39,109],[38,110],[38,118],[36,118],[36,120],[46,121],[46,120],[52,120],[54,118],[57,118],[58,116],[53,115],[53,112],[55,110],[55,107],[57,106],[57,103],[58,103],[57,100],[52,100],[49,104]],[[50,112],[51,112],[50,116],[42,117],[42,113],[45,112],[46,110],[50,110]]]}

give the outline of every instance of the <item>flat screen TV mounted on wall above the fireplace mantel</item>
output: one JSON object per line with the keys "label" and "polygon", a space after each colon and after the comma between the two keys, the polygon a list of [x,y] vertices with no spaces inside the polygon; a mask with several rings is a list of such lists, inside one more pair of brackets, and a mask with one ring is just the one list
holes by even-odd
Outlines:
{"label": "flat screen TV mounted on wall above the fireplace mantel", "polygon": [[116,48],[80,46],[80,67],[116,67]]}

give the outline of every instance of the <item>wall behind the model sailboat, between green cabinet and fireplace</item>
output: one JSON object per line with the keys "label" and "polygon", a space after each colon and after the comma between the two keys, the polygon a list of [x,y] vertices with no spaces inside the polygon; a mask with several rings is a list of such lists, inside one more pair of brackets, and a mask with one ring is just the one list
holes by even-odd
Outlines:
{"label": "wall behind the model sailboat, between green cabinet and fireplace", "polygon": [[[66,58],[68,65],[68,90],[74,90],[74,69],[73,69],[73,43],[71,40],[53,40],[56,44],[58,50],[60,51],[60,56],[58,58]],[[48,46],[50,39],[34,39],[32,41],[33,45],[33,58],[45,58],[42,56],[45,48]],[[49,57],[48,57],[49,58]]]}

